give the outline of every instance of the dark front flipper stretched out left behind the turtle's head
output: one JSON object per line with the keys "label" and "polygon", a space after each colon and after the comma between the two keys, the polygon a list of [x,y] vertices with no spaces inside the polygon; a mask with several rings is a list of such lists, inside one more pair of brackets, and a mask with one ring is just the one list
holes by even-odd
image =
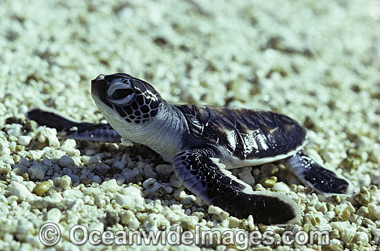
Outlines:
{"label": "dark front flipper stretched out left behind the turtle's head", "polygon": [[74,122],[55,113],[34,109],[28,111],[27,117],[39,125],[57,129],[64,138],[91,140],[98,142],[120,142],[120,135],[109,124],[92,124]]}

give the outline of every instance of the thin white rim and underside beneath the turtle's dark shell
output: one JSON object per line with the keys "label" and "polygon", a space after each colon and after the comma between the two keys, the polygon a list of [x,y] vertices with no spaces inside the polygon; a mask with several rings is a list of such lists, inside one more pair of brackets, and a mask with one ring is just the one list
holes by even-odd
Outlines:
{"label": "thin white rim and underside beneath the turtle's dark shell", "polygon": [[229,155],[226,154],[225,155],[226,169],[234,169],[234,168],[238,168],[238,167],[251,167],[251,166],[255,166],[255,165],[263,165],[265,163],[270,163],[270,162],[274,162],[277,160],[283,160],[284,158],[287,158],[289,156],[292,156],[292,155],[298,153],[298,151],[303,149],[306,142],[307,142],[307,140],[305,140],[305,142],[303,142],[302,145],[300,145],[299,147],[297,147],[293,151],[289,151],[287,154],[281,154],[281,155],[269,157],[269,158],[256,158],[256,159],[250,159],[250,160],[240,160],[240,158],[238,158],[238,157],[235,157],[231,154],[229,154]]}

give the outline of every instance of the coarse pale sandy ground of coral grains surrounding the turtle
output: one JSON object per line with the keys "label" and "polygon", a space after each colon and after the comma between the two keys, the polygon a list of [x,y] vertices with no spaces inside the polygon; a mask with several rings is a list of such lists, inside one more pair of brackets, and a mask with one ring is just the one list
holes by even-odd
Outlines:
{"label": "coarse pale sandy ground of coral grains surrounding the turtle", "polygon": [[[379,1],[1,1],[0,250],[44,248],[46,222],[60,227],[58,250],[124,248],[75,247],[75,224],[101,232],[267,229],[276,240],[285,230],[327,230],[330,247],[250,248],[376,250],[379,9]],[[204,205],[146,147],[65,140],[26,122],[32,107],[99,122],[90,81],[115,72],[151,82],[172,103],[289,115],[308,129],[306,153],[350,179],[355,195],[310,193],[281,165],[235,171],[255,190],[286,192],[303,211],[296,225],[266,228]],[[277,186],[263,187],[269,176]]]}

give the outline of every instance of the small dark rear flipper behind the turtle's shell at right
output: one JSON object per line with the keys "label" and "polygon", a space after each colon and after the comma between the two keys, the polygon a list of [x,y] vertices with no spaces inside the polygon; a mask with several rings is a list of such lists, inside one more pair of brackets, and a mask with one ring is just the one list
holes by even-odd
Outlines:
{"label": "small dark rear flipper behind the turtle's shell at right", "polygon": [[351,195],[350,183],[344,178],[339,178],[333,171],[321,167],[309,156],[298,151],[297,154],[285,158],[282,162],[300,180],[324,196]]}

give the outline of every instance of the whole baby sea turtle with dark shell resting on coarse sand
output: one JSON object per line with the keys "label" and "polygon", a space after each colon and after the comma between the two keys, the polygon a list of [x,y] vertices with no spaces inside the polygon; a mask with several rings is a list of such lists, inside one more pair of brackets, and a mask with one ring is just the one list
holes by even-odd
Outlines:
{"label": "whole baby sea turtle with dark shell resting on coarse sand", "polygon": [[73,122],[32,110],[28,118],[66,138],[146,145],[207,205],[256,223],[297,223],[297,204],[281,192],[254,192],[228,169],[281,160],[300,180],[325,196],[349,194],[349,183],[305,156],[306,131],[272,111],[168,104],[151,84],[125,73],[99,75],[91,94],[109,124]]}

